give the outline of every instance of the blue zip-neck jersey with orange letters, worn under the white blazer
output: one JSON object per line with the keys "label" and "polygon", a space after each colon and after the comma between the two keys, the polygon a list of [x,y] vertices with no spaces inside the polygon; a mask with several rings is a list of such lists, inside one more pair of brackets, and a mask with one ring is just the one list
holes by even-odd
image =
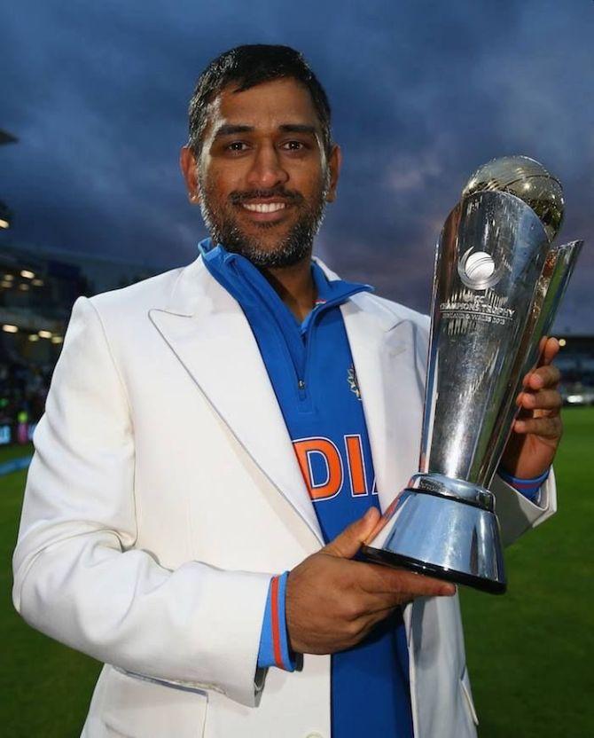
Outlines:
{"label": "blue zip-neck jersey with orange letters, worn under the white blazer", "polygon": [[[312,263],[317,302],[299,324],[252,263],[210,241],[201,246],[208,271],[239,302],[254,332],[330,541],[370,506],[379,507],[363,398],[340,312],[342,302],[371,287],[328,280]],[[411,738],[408,651],[399,609],[355,648],[332,656],[331,694],[334,738]]]}

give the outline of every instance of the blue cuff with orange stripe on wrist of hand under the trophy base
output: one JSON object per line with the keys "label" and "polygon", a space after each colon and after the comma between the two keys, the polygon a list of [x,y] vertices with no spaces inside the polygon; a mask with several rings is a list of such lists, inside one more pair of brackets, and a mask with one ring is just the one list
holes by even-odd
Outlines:
{"label": "blue cuff with orange stripe on wrist of hand under the trophy base", "polygon": [[[293,652],[289,650],[285,619],[285,593],[288,576],[289,572],[285,571],[284,574],[270,579],[258,651],[259,669],[277,666],[285,671],[295,671],[296,659]],[[275,594],[276,600],[273,602]]]}

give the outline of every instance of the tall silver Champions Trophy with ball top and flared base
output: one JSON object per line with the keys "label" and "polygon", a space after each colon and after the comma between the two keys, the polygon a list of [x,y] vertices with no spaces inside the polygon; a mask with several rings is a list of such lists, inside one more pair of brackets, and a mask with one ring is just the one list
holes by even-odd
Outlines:
{"label": "tall silver Champions Trophy with ball top and flared base", "polygon": [[504,593],[488,491],[582,241],[553,246],[561,185],[541,164],[489,161],[465,186],[437,245],[419,472],[363,557]]}

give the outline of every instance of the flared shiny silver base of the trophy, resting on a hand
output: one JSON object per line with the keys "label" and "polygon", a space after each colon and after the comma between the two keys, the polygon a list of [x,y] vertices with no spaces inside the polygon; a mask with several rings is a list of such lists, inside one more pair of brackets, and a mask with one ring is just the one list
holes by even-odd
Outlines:
{"label": "flared shiny silver base of the trophy, resting on a hand", "polygon": [[504,559],[494,506],[493,495],[478,484],[415,475],[364,542],[361,557],[502,594]]}

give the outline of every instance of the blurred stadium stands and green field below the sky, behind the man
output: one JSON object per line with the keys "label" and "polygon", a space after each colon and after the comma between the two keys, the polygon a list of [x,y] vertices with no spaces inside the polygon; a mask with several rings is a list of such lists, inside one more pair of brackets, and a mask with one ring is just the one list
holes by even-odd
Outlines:
{"label": "blurred stadium stands and green field below the sky, behind the man", "polygon": [[[0,130],[0,145],[16,142]],[[161,270],[15,243],[11,220],[0,200],[0,626],[10,664],[0,672],[0,725],[6,736],[65,738],[80,732],[99,664],[34,632],[12,609],[11,555],[31,438],[76,297]],[[594,335],[558,335],[566,404],[559,514],[508,552],[505,597],[462,593],[483,738],[592,734]]]}

